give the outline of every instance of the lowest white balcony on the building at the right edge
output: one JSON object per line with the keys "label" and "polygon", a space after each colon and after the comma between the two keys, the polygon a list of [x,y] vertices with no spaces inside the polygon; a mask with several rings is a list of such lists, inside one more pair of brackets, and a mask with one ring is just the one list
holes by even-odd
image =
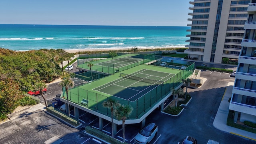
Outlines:
{"label": "lowest white balcony on the building at the right edge", "polygon": [[256,106],[250,106],[238,102],[230,102],[229,109],[256,116]]}

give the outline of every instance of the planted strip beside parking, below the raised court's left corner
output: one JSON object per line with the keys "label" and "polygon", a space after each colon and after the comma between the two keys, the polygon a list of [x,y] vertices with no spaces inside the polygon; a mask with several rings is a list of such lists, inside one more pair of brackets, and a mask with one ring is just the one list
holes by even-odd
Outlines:
{"label": "planted strip beside parking, below the raised court's left corner", "polygon": [[54,114],[55,116],[61,118],[62,120],[64,120],[65,122],[67,122],[71,125],[73,125],[74,127],[79,126],[79,124],[80,124],[78,120],[68,117],[64,112],[60,112],[52,106],[49,106],[46,109],[51,114]]}

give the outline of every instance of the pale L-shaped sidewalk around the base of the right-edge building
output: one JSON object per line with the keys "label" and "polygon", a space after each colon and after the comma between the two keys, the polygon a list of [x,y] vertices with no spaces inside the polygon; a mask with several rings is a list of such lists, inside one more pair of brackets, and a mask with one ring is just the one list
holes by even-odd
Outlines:
{"label": "pale L-shaped sidewalk around the base of the right-edge building", "polygon": [[241,137],[256,141],[256,134],[226,125],[226,121],[228,118],[228,112],[229,112],[228,99],[232,96],[233,85],[234,85],[234,83],[230,83],[226,87],[226,91],[225,91],[224,96],[222,97],[222,100],[220,102],[218,112],[214,118],[213,126],[215,128],[217,128],[218,130],[228,132],[231,134],[235,134],[237,136],[241,136]]}

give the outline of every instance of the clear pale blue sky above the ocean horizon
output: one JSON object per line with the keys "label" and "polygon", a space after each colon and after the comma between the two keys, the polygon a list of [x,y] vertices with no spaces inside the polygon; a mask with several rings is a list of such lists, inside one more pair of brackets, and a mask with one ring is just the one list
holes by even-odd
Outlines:
{"label": "clear pale blue sky above the ocean horizon", "polygon": [[0,24],[186,26],[190,0],[0,0]]}

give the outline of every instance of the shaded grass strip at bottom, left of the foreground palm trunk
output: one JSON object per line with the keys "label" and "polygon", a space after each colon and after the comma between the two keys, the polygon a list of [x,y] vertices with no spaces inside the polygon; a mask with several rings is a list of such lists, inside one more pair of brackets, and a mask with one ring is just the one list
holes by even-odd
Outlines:
{"label": "shaded grass strip at bottom, left of the foreground palm trunk", "polygon": [[86,126],[85,130],[88,134],[92,134],[102,140],[105,140],[106,142],[109,142],[110,144],[127,144],[126,142],[120,142],[119,140],[116,140],[115,138],[112,138],[109,135],[103,133],[101,130],[91,128],[90,126]]}

